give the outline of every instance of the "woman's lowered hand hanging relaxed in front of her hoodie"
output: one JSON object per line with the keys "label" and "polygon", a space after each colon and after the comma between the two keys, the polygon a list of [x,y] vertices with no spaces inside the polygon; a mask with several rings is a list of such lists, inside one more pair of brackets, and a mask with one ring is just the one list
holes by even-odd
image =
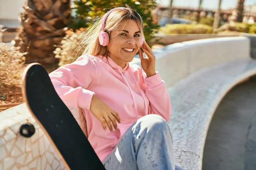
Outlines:
{"label": "woman's lowered hand hanging relaxed in front of her hoodie", "polygon": [[93,95],[91,100],[90,111],[97,119],[99,119],[104,130],[107,130],[106,123],[111,132],[113,132],[112,124],[117,130],[116,120],[117,122],[121,123],[118,113],[116,113],[111,107],[109,107],[105,102],[102,102],[102,100],[95,95]]}

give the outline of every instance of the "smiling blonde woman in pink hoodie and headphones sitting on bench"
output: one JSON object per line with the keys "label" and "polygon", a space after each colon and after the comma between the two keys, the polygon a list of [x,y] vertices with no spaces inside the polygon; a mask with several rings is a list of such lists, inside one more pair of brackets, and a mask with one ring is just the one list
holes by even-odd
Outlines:
{"label": "smiling blonde woman in pink hoodie and headphones sitting on bench", "polygon": [[[105,168],[174,170],[170,98],[144,41],[140,15],[114,8],[93,24],[83,43],[84,55],[49,76],[67,107],[82,109],[88,140]],[[145,73],[128,63],[140,47]]]}

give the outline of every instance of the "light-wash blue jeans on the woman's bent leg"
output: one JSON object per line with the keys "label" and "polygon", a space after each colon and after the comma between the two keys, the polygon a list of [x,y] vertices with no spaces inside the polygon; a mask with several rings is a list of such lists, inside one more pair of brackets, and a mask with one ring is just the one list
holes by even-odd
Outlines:
{"label": "light-wash blue jeans on the woman's bent leg", "polygon": [[138,119],[103,164],[107,170],[175,170],[168,123],[155,114]]}

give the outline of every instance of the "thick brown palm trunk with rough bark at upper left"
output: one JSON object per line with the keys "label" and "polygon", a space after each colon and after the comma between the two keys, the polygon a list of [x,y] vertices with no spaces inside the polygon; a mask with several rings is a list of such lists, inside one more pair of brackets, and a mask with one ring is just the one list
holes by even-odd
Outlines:
{"label": "thick brown palm trunk with rough bark at upper left", "polygon": [[15,46],[26,54],[26,63],[57,63],[53,51],[60,45],[70,17],[70,0],[26,0]]}

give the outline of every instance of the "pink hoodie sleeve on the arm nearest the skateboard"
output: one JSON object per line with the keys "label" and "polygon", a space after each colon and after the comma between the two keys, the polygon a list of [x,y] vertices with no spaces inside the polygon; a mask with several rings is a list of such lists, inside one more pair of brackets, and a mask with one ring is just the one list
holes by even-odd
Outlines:
{"label": "pink hoodie sleeve on the arm nearest the skateboard", "polygon": [[68,108],[90,109],[94,92],[87,90],[96,77],[96,66],[86,55],[49,74],[55,91]]}

